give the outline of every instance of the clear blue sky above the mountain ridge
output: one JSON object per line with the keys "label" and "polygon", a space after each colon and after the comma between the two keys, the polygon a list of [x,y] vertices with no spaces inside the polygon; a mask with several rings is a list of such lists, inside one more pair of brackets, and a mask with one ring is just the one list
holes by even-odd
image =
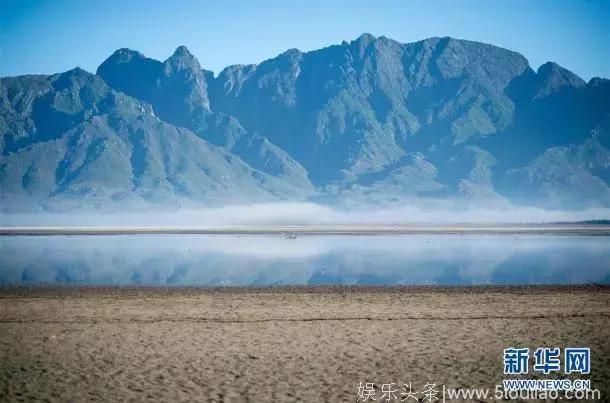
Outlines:
{"label": "clear blue sky above the mountain ridge", "polygon": [[95,72],[121,47],[164,60],[186,45],[207,69],[258,63],[363,32],[400,42],[453,36],[610,77],[610,1],[2,0],[0,75]]}

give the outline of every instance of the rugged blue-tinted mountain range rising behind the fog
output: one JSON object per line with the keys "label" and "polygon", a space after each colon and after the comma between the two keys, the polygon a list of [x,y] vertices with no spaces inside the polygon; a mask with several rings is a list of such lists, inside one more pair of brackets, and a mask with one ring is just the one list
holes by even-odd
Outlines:
{"label": "rugged blue-tinted mountain range rising behind the fog", "polygon": [[610,80],[363,34],[218,75],[180,46],[0,79],[4,211],[277,200],[610,206]]}

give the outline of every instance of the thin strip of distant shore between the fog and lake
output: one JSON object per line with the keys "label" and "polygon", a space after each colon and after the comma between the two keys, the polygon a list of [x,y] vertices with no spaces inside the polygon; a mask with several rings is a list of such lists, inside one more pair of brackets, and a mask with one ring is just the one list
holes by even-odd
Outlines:
{"label": "thin strip of distant shore between the fog and lake", "polygon": [[607,224],[283,225],[203,227],[0,227],[11,235],[610,235]]}

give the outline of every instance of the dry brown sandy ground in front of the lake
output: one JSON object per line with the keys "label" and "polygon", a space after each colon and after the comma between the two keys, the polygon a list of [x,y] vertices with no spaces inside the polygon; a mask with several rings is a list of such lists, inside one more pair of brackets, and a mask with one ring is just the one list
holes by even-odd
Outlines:
{"label": "dry brown sandy ground in front of the lake", "polygon": [[360,381],[493,388],[509,346],[590,347],[590,379],[608,398],[610,290],[0,290],[0,401],[356,401]]}

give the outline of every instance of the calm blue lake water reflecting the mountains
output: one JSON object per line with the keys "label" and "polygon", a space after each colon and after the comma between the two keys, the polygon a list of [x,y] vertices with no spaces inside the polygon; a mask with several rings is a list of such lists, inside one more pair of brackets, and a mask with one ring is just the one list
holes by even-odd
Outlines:
{"label": "calm blue lake water reflecting the mountains", "polygon": [[610,283],[602,236],[0,237],[0,284]]}

